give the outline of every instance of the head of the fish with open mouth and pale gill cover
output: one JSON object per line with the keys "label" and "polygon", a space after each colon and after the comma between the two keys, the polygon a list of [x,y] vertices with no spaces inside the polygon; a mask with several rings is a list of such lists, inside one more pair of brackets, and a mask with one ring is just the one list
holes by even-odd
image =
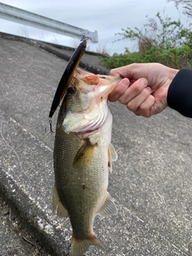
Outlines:
{"label": "head of the fish with open mouth and pale gill cover", "polygon": [[120,80],[120,77],[102,77],[78,68],[63,99],[65,132],[82,134],[102,127],[109,114],[108,95]]}

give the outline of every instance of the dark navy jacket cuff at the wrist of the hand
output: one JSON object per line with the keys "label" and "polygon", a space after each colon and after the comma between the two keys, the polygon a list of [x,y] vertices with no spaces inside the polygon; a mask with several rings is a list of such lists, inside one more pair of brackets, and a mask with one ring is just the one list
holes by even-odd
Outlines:
{"label": "dark navy jacket cuff at the wrist of the hand", "polygon": [[182,68],[178,71],[170,84],[167,104],[182,115],[192,118],[192,70]]}

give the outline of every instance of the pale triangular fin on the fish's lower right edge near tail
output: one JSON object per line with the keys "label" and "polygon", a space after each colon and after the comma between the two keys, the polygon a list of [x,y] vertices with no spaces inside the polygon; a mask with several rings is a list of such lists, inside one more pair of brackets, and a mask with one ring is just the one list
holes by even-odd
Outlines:
{"label": "pale triangular fin on the fish's lower right edge near tail", "polygon": [[99,210],[98,214],[100,216],[113,215],[117,214],[118,209],[113,202],[113,198],[111,198],[110,194],[107,192],[106,200],[102,205],[102,208]]}

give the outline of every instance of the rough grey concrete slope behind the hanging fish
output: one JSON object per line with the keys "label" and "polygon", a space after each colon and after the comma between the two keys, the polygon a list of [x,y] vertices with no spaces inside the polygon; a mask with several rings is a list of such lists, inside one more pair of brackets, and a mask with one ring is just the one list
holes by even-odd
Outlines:
{"label": "rough grey concrete slope behind the hanging fish", "polygon": [[[70,222],[51,210],[54,134],[45,132],[70,53],[0,34],[0,193],[50,255],[70,251]],[[85,54],[85,63],[107,72],[96,55]],[[170,109],[150,119],[118,103],[110,110],[118,161],[109,191],[118,215],[95,220],[107,253],[91,247],[85,255],[192,255],[191,120]]]}

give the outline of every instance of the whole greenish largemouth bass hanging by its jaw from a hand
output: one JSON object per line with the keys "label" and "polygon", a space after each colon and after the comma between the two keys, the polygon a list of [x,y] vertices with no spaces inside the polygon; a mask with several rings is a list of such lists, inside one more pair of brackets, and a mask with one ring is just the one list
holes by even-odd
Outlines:
{"label": "whole greenish largemouth bass hanging by its jaw from a hand", "polygon": [[121,79],[77,68],[58,112],[53,210],[70,218],[71,256],[82,256],[90,246],[106,250],[94,234],[94,218],[118,212],[107,192],[112,161],[118,158],[107,98]]}

